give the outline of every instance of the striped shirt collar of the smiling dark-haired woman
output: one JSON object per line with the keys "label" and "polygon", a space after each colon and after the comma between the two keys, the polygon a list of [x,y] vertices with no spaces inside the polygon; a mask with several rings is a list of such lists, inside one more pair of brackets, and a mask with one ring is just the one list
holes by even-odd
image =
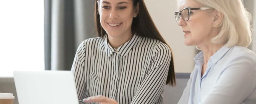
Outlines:
{"label": "striped shirt collar of the smiling dark-haired woman", "polygon": [[122,57],[125,57],[130,50],[135,46],[135,44],[137,44],[140,41],[141,37],[137,36],[136,34],[134,34],[129,41],[127,41],[126,43],[124,43],[122,46],[118,47],[116,50],[110,46],[109,42],[108,42],[108,35],[105,35],[105,52],[106,55],[108,57],[110,57],[114,52],[116,52],[117,54],[120,54]]}

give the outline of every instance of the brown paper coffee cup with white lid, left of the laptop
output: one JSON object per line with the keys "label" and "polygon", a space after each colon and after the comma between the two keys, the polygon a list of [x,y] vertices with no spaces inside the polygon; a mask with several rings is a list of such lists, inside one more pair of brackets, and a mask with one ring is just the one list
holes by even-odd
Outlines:
{"label": "brown paper coffee cup with white lid, left of the laptop", "polygon": [[0,104],[13,104],[13,99],[13,94],[0,93]]}

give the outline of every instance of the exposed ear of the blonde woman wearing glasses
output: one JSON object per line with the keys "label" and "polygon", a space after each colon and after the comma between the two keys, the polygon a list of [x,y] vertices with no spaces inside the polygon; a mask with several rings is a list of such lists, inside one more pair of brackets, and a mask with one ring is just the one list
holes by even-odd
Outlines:
{"label": "exposed ear of the blonde woman wearing glasses", "polygon": [[223,13],[218,10],[214,10],[214,20],[212,23],[213,27],[219,27],[223,20]]}

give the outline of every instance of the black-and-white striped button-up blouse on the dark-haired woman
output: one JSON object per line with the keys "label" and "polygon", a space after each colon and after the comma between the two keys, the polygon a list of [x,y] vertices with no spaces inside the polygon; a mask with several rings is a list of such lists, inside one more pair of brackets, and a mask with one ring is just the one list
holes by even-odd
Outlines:
{"label": "black-and-white striped button-up blouse on the dark-haired woman", "polygon": [[162,104],[170,61],[169,47],[148,37],[133,35],[117,49],[107,35],[86,39],[71,69],[78,100],[102,95],[119,104]]}

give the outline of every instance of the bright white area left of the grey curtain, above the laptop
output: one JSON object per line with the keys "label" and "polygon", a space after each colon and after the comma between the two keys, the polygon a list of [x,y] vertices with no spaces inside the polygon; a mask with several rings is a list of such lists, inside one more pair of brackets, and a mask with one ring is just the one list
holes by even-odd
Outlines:
{"label": "bright white area left of the grey curtain, above the laptop", "polygon": [[0,77],[44,70],[44,1],[0,0]]}

